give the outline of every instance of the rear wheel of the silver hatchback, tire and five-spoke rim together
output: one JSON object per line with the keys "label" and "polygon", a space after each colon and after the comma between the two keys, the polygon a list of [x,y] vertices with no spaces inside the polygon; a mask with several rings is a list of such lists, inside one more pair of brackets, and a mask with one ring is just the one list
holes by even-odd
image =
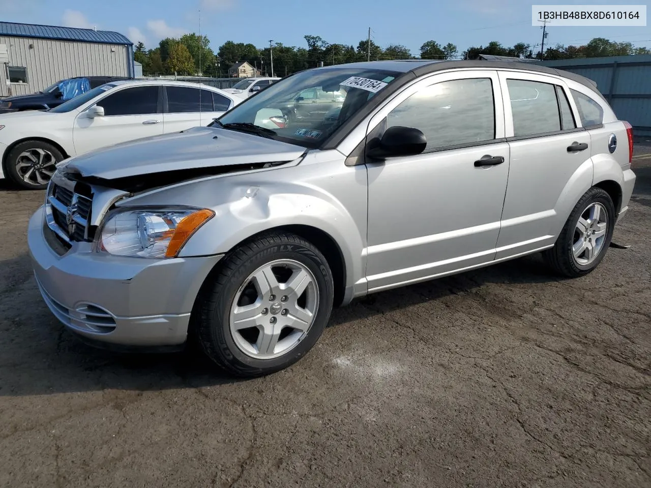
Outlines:
{"label": "rear wheel of the silver hatchback, tire and five-spoke rim together", "polygon": [[592,187],[581,197],[553,248],[544,252],[559,274],[575,278],[595,269],[610,245],[616,211],[610,195]]}

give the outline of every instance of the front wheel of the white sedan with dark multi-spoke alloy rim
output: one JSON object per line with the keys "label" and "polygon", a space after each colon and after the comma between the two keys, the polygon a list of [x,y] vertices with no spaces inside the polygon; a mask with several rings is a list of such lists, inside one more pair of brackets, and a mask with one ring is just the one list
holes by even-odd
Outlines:
{"label": "front wheel of the white sedan with dark multi-spoke alloy rim", "polygon": [[61,151],[48,142],[21,142],[7,155],[7,176],[22,188],[44,189],[63,159]]}

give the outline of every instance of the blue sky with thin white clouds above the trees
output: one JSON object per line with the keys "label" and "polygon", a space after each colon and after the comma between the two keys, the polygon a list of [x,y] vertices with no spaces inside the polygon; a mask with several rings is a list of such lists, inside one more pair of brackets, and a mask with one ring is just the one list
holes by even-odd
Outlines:
{"label": "blue sky with thin white clouds above the trees", "polygon": [[[544,3],[542,1],[536,4]],[[559,4],[561,2],[554,2]],[[630,5],[615,2],[563,0],[564,5]],[[639,3],[639,2],[638,2]],[[305,0],[0,0],[3,21],[65,25],[117,31],[134,43],[156,47],[165,37],[184,33],[208,36],[215,52],[227,40],[251,42],[257,47],[269,40],[284,46],[307,47],[303,36],[321,36],[326,42],[357,46],[366,39],[381,47],[407,46],[413,55],[428,40],[452,42],[461,53],[469,46],[499,41],[537,44],[542,31],[531,25],[531,2],[522,0],[374,0],[327,2]],[[546,45],[585,44],[594,37],[633,42],[651,48],[651,27],[554,27],[547,25]]]}

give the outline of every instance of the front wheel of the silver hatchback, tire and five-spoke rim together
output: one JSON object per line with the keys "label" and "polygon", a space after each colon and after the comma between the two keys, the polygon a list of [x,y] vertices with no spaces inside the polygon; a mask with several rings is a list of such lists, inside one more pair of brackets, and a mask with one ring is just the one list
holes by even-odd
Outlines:
{"label": "front wheel of the silver hatchback, tire and five-spoke rim together", "polygon": [[195,308],[204,352],[239,376],[298,361],[324,331],[334,286],[326,258],[302,237],[273,232],[238,247]]}

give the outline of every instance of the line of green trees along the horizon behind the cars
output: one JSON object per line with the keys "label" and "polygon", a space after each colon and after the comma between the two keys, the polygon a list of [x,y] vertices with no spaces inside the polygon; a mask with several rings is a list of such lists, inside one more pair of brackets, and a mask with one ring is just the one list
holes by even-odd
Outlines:
{"label": "line of green trees along the horizon behind the cars", "polygon": [[[439,44],[428,40],[422,44],[420,53],[413,55],[406,46],[390,44],[380,47],[372,40],[361,40],[355,46],[330,44],[320,36],[304,36],[306,47],[284,46],[280,42],[273,45],[273,71],[277,76],[288,75],[314,66],[342,64],[346,62],[380,61],[386,59],[477,59],[480,54],[540,59],[540,47],[535,44],[518,42],[514,46],[502,46],[492,41],[486,46],[471,46],[459,53],[454,44]],[[537,51],[536,51],[537,49]],[[630,42],[613,42],[605,38],[594,38],[585,45],[549,46],[542,53],[542,59],[575,59],[633,54],[650,54],[646,47],[634,47]],[[254,44],[227,41],[217,53],[210,48],[207,36],[195,33],[176,38],[165,38],[158,47],[146,49],[142,42],[137,43],[135,61],[143,65],[143,74],[161,75],[203,75],[208,77],[228,77],[229,68],[238,61],[247,61],[262,75],[271,75],[270,47],[256,47]]]}

